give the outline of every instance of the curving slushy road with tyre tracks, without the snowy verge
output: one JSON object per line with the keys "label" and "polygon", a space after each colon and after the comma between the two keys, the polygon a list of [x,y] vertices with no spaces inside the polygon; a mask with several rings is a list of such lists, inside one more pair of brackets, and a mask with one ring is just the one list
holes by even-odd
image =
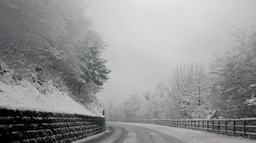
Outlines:
{"label": "curving slushy road with tyre tracks, without the snowy verge", "polygon": [[[153,143],[153,142],[168,142],[168,143],[183,143],[183,141],[169,136],[163,132],[140,127],[134,124],[107,122],[107,130],[101,136],[86,141],[86,143],[105,142],[105,143],[121,143],[121,142],[138,142],[138,143]],[[85,143],[85,142],[84,142]]]}

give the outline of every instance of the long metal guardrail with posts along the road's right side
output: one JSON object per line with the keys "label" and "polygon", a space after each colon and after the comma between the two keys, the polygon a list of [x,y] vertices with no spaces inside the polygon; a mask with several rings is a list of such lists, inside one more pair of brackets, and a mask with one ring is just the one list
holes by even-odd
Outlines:
{"label": "long metal guardrail with posts along the road's right side", "polygon": [[110,122],[130,122],[166,125],[196,130],[204,130],[214,133],[227,134],[229,136],[241,136],[256,139],[256,117],[245,119],[214,119],[214,120],[167,120],[167,119],[107,119]]}

